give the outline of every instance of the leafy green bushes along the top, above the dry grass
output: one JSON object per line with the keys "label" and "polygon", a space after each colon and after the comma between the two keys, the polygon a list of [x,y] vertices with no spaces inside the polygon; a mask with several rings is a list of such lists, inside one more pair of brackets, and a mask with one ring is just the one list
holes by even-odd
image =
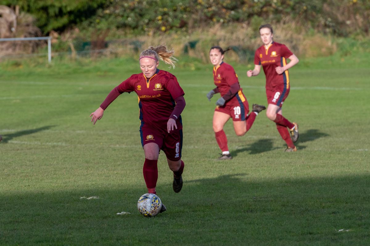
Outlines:
{"label": "leafy green bushes along the top, above the dry grass", "polygon": [[154,29],[189,30],[212,23],[279,22],[289,16],[326,34],[346,37],[369,33],[367,0],[5,0],[37,18],[47,34],[71,25],[128,29],[143,34]]}

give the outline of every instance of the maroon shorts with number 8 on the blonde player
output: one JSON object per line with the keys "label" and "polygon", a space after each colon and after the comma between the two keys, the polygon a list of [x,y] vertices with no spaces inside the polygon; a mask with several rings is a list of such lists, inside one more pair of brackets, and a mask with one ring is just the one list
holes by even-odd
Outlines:
{"label": "maroon shorts with number 8 on the blonde player", "polygon": [[140,127],[140,137],[143,148],[147,143],[157,143],[159,149],[163,150],[169,160],[181,159],[182,129],[171,133],[161,133],[157,129]]}

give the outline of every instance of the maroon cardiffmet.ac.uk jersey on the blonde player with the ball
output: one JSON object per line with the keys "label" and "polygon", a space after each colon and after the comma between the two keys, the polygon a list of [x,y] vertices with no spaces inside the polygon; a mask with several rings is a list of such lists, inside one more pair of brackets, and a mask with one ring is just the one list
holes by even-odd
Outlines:
{"label": "maroon cardiffmet.ac.uk jersey on the blonde player with the ball", "polygon": [[[157,69],[149,80],[143,73],[129,77],[118,86],[118,92],[135,91],[139,97],[141,126],[167,131],[167,121],[175,108],[175,100],[184,95],[174,75]],[[177,129],[182,129],[181,116],[176,120]]]}

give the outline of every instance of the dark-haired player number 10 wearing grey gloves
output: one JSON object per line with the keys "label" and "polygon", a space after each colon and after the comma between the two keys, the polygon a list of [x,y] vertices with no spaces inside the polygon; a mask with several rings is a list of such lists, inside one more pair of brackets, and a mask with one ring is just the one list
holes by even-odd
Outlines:
{"label": "dark-haired player number 10 wearing grey gloves", "polygon": [[221,94],[213,114],[213,131],[218,146],[222,150],[219,160],[232,159],[228,148],[228,139],[223,131],[226,122],[232,118],[236,135],[243,136],[252,127],[258,113],[266,109],[263,105],[253,104],[253,112],[248,115],[248,101],[240,88],[238,76],[231,65],[223,62],[224,53],[229,49],[224,51],[219,46],[213,46],[209,51],[209,58],[214,66],[213,81],[217,87],[209,91],[207,98],[211,101],[213,94]]}

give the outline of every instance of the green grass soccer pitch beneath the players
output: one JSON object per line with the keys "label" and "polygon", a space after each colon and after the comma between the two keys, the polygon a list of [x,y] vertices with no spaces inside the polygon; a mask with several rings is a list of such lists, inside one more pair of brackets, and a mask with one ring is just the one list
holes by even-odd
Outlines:
{"label": "green grass soccer pitch beneath the players", "polygon": [[[113,87],[140,72],[137,61],[3,63],[0,245],[367,245],[368,58],[301,59],[283,106],[299,124],[298,151],[283,152],[261,113],[242,137],[226,124],[229,161],[216,160],[218,97],[205,96],[212,65],[180,59],[171,72],[186,99],[184,187],[172,191],[161,152],[157,193],[168,210],[154,218],[136,208],[147,193],[137,96],[122,94],[96,125],[89,118]],[[235,69],[249,104],[266,104],[263,73],[247,78],[247,66]],[[100,199],[81,199],[92,196]]]}

